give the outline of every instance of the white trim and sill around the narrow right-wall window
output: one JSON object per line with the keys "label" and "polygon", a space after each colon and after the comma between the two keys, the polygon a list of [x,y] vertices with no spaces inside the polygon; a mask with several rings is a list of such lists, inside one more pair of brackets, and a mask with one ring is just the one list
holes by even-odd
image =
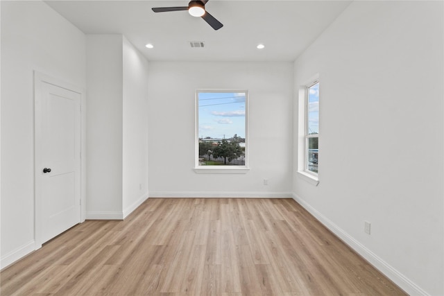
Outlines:
{"label": "white trim and sill around the narrow right-wall window", "polygon": [[[319,75],[316,74],[313,78],[302,84],[298,92],[298,177],[302,180],[318,186],[319,175],[308,170],[308,155],[307,155],[307,104],[308,104],[308,89],[319,82]],[[321,120],[321,119],[320,119]],[[318,135],[319,137],[319,135]]]}

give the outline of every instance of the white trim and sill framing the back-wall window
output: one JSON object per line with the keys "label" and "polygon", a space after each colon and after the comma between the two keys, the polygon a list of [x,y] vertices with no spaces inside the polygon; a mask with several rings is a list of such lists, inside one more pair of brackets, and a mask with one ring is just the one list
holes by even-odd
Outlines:
{"label": "white trim and sill framing the back-wall window", "polygon": [[[202,92],[244,92],[245,93],[245,165],[244,166],[199,166],[199,98]],[[194,98],[194,172],[198,174],[246,174],[248,167],[248,90],[246,89],[196,89]]]}

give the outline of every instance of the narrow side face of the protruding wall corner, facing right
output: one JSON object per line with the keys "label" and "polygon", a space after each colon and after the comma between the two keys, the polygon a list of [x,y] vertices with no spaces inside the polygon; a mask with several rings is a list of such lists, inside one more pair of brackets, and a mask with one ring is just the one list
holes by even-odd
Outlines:
{"label": "narrow side face of the protruding wall corner, facing right", "polygon": [[148,62],[123,37],[123,216],[148,198]]}

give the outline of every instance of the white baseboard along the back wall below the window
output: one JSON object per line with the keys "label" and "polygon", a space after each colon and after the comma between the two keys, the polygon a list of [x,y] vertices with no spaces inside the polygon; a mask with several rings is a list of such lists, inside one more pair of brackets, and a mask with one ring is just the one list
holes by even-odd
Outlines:
{"label": "white baseboard along the back wall below the window", "polygon": [[154,191],[150,198],[292,198],[291,192]]}

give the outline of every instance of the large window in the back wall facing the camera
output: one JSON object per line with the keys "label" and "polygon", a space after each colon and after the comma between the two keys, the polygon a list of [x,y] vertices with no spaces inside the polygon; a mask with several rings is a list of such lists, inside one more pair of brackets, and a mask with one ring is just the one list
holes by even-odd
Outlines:
{"label": "large window in the back wall facing the camera", "polygon": [[247,101],[246,90],[196,92],[196,169],[247,168]]}

